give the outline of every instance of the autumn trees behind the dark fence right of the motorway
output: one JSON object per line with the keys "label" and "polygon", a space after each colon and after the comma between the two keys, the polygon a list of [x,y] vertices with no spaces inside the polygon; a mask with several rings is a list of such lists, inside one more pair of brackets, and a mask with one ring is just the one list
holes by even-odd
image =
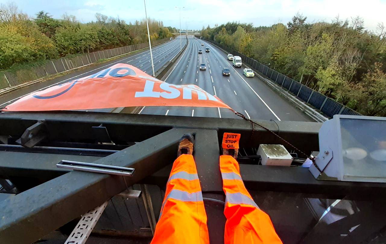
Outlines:
{"label": "autumn trees behind the dark fence right of the motorway", "polygon": [[252,57],[359,113],[386,116],[386,30],[360,17],[309,24],[295,15],[270,27],[229,22],[201,35]]}

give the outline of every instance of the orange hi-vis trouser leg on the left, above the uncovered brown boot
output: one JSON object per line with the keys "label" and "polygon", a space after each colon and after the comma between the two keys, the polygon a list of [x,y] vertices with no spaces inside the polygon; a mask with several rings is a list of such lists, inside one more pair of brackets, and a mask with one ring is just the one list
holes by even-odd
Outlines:
{"label": "orange hi-vis trouser leg on the left, above the uncovered brown boot", "polygon": [[207,214],[192,155],[173,163],[152,244],[208,244]]}

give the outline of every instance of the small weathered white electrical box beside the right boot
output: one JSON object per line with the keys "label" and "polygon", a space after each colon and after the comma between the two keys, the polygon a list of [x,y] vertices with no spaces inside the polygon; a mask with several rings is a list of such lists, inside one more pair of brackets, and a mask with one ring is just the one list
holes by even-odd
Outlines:
{"label": "small weathered white electrical box beside the right boot", "polygon": [[290,166],[293,160],[283,145],[260,144],[257,155],[261,156],[262,165]]}

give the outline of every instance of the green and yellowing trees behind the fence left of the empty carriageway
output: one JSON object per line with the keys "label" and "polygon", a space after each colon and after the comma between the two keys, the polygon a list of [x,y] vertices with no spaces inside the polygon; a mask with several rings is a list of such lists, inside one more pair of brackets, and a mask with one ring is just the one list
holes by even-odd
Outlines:
{"label": "green and yellowing trees behind the fence left of the empty carriageway", "polygon": [[[151,40],[172,37],[176,31],[162,21],[148,19]],[[95,21],[81,23],[64,13],[61,19],[40,11],[29,17],[14,3],[0,5],[0,70],[15,65],[148,42],[146,19],[124,20],[95,14]]]}

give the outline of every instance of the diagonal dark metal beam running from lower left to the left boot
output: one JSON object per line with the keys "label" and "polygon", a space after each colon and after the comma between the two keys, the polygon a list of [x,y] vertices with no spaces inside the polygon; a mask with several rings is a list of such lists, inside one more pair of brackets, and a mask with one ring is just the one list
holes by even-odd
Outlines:
{"label": "diagonal dark metal beam running from lower left to the left boot", "polygon": [[[181,135],[171,129],[95,161],[135,168],[130,186],[173,162]],[[72,171],[0,202],[0,236],[4,243],[31,243],[125,190],[123,177]],[[25,233],[29,233],[25,235]]]}

